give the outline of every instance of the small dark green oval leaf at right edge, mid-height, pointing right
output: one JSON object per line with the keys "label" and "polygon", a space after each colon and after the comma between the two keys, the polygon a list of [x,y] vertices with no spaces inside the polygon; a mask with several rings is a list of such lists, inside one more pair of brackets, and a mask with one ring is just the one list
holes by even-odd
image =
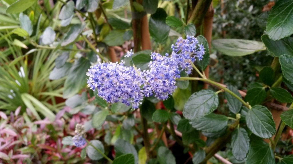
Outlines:
{"label": "small dark green oval leaf at right edge, mid-height, pointing right", "polygon": [[279,102],[282,103],[292,103],[293,97],[292,95],[283,88],[270,88],[270,93],[272,96]]}

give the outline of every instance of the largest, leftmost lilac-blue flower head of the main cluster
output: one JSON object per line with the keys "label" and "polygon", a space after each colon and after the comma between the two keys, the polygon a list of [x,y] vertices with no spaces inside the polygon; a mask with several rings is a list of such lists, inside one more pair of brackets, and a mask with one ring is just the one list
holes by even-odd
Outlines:
{"label": "largest, leftmost lilac-blue flower head of the main cluster", "polygon": [[98,90],[98,96],[108,103],[122,102],[137,109],[144,93],[140,88],[144,77],[140,69],[123,66],[124,62],[98,63],[86,73],[88,87]]}

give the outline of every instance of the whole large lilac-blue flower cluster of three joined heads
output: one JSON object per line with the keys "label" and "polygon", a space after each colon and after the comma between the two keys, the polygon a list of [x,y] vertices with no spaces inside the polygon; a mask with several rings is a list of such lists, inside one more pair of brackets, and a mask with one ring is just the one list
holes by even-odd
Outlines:
{"label": "whole large lilac-blue flower cluster of three joined heads", "polygon": [[[155,94],[160,100],[168,99],[176,87],[176,78],[180,78],[180,71],[191,73],[192,62],[202,60],[205,49],[194,36],[187,39],[180,37],[172,45],[169,56],[151,53],[152,61],[148,70],[141,71],[134,67],[125,67],[120,63],[98,63],[88,72],[88,87],[97,89],[98,96],[108,103],[122,102],[133,109],[137,109],[144,97]],[[132,50],[125,57],[131,57]]]}

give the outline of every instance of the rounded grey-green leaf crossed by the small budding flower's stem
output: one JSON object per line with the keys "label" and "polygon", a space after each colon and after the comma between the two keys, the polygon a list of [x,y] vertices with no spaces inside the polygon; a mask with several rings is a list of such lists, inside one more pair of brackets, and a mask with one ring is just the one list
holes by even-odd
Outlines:
{"label": "rounded grey-green leaf crossed by the small budding flower's stem", "polygon": [[[102,144],[102,142],[100,142],[99,140],[91,140],[90,142],[97,149],[99,149],[100,151],[105,153],[104,145]],[[103,156],[98,151],[96,151],[96,149],[93,148],[93,146],[88,145],[86,147],[86,152],[88,154],[88,157],[91,158],[91,160],[100,160],[100,159],[102,159]]]}

